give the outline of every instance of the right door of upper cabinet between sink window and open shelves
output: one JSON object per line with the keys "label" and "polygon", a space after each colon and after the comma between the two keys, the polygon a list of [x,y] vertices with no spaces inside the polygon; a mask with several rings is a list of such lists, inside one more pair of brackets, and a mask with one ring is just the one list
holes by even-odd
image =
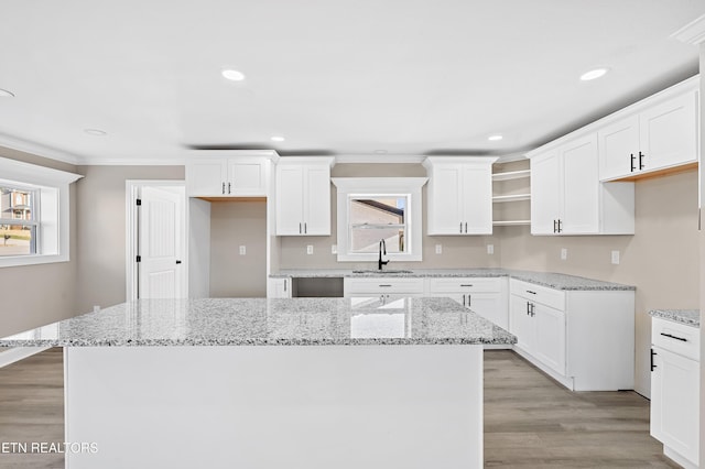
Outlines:
{"label": "right door of upper cabinet between sink window and open shelves", "polygon": [[463,167],[463,233],[492,233],[492,170],[486,166]]}

